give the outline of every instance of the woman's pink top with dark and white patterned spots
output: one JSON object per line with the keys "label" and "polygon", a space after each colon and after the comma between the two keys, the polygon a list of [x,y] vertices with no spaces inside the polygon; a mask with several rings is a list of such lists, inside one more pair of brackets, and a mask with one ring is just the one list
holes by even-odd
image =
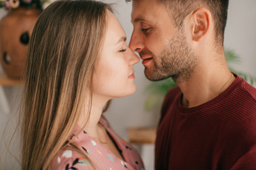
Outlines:
{"label": "woman's pink top with dark and white patterned spots", "polygon": [[124,160],[118,158],[115,154],[106,149],[106,147],[90,137],[87,132],[78,127],[75,131],[78,130],[82,132],[78,135],[72,135],[72,144],[86,153],[88,158],[82,157],[82,154],[75,149],[64,148],[52,159],[49,169],[144,169],[143,162],[136,149],[128,142],[122,140],[121,137],[113,131],[104,117],[101,117],[99,123],[104,126]]}

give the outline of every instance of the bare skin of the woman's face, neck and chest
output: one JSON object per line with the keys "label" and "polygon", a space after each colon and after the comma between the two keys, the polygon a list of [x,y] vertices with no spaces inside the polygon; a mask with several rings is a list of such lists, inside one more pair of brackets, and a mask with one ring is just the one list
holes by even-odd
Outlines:
{"label": "bare skin of the woman's face, neck and chest", "polygon": [[[101,145],[111,150],[117,157],[123,159],[116,149],[106,130],[99,124],[99,119],[107,101],[112,98],[124,97],[135,92],[133,65],[140,59],[126,45],[126,33],[116,16],[107,11],[108,26],[106,37],[93,79],[91,114],[84,130],[101,142]],[[84,111],[88,111],[89,103]],[[81,119],[83,125],[87,117]]]}

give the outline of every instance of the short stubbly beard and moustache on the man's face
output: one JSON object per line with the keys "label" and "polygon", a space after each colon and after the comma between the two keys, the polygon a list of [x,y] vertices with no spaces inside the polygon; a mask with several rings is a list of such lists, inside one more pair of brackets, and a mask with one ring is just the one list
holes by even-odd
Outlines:
{"label": "short stubbly beard and moustache on the man's face", "polygon": [[172,77],[174,81],[187,81],[196,67],[196,55],[189,48],[182,32],[177,33],[165,45],[164,50],[153,55],[149,50],[143,50],[140,55],[153,57],[151,68],[145,67],[145,76],[151,81],[159,81]]}

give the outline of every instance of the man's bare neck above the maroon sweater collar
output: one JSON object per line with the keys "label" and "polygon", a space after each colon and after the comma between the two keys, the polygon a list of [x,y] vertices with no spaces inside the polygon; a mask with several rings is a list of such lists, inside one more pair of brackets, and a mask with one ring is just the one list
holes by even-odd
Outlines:
{"label": "man's bare neck above the maroon sweater collar", "polygon": [[177,82],[183,93],[182,106],[200,106],[216,98],[233,83],[235,77],[232,75],[228,67],[201,68],[188,81]]}

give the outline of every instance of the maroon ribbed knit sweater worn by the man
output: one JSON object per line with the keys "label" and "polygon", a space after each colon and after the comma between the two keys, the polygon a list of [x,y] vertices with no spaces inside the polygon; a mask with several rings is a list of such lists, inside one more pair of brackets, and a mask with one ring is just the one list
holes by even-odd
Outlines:
{"label": "maroon ribbed knit sweater worn by the man", "polygon": [[155,169],[256,169],[256,89],[238,77],[213,100],[181,106],[167,94],[157,129]]}

